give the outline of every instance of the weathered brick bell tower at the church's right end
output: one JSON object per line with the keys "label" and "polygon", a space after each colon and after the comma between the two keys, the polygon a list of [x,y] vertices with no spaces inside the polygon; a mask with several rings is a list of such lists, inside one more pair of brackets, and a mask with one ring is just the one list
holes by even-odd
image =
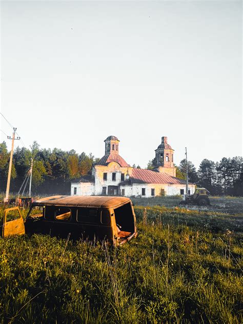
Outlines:
{"label": "weathered brick bell tower at the church's right end", "polygon": [[174,150],[167,143],[166,136],[161,137],[161,144],[155,150],[155,169],[175,176]]}

